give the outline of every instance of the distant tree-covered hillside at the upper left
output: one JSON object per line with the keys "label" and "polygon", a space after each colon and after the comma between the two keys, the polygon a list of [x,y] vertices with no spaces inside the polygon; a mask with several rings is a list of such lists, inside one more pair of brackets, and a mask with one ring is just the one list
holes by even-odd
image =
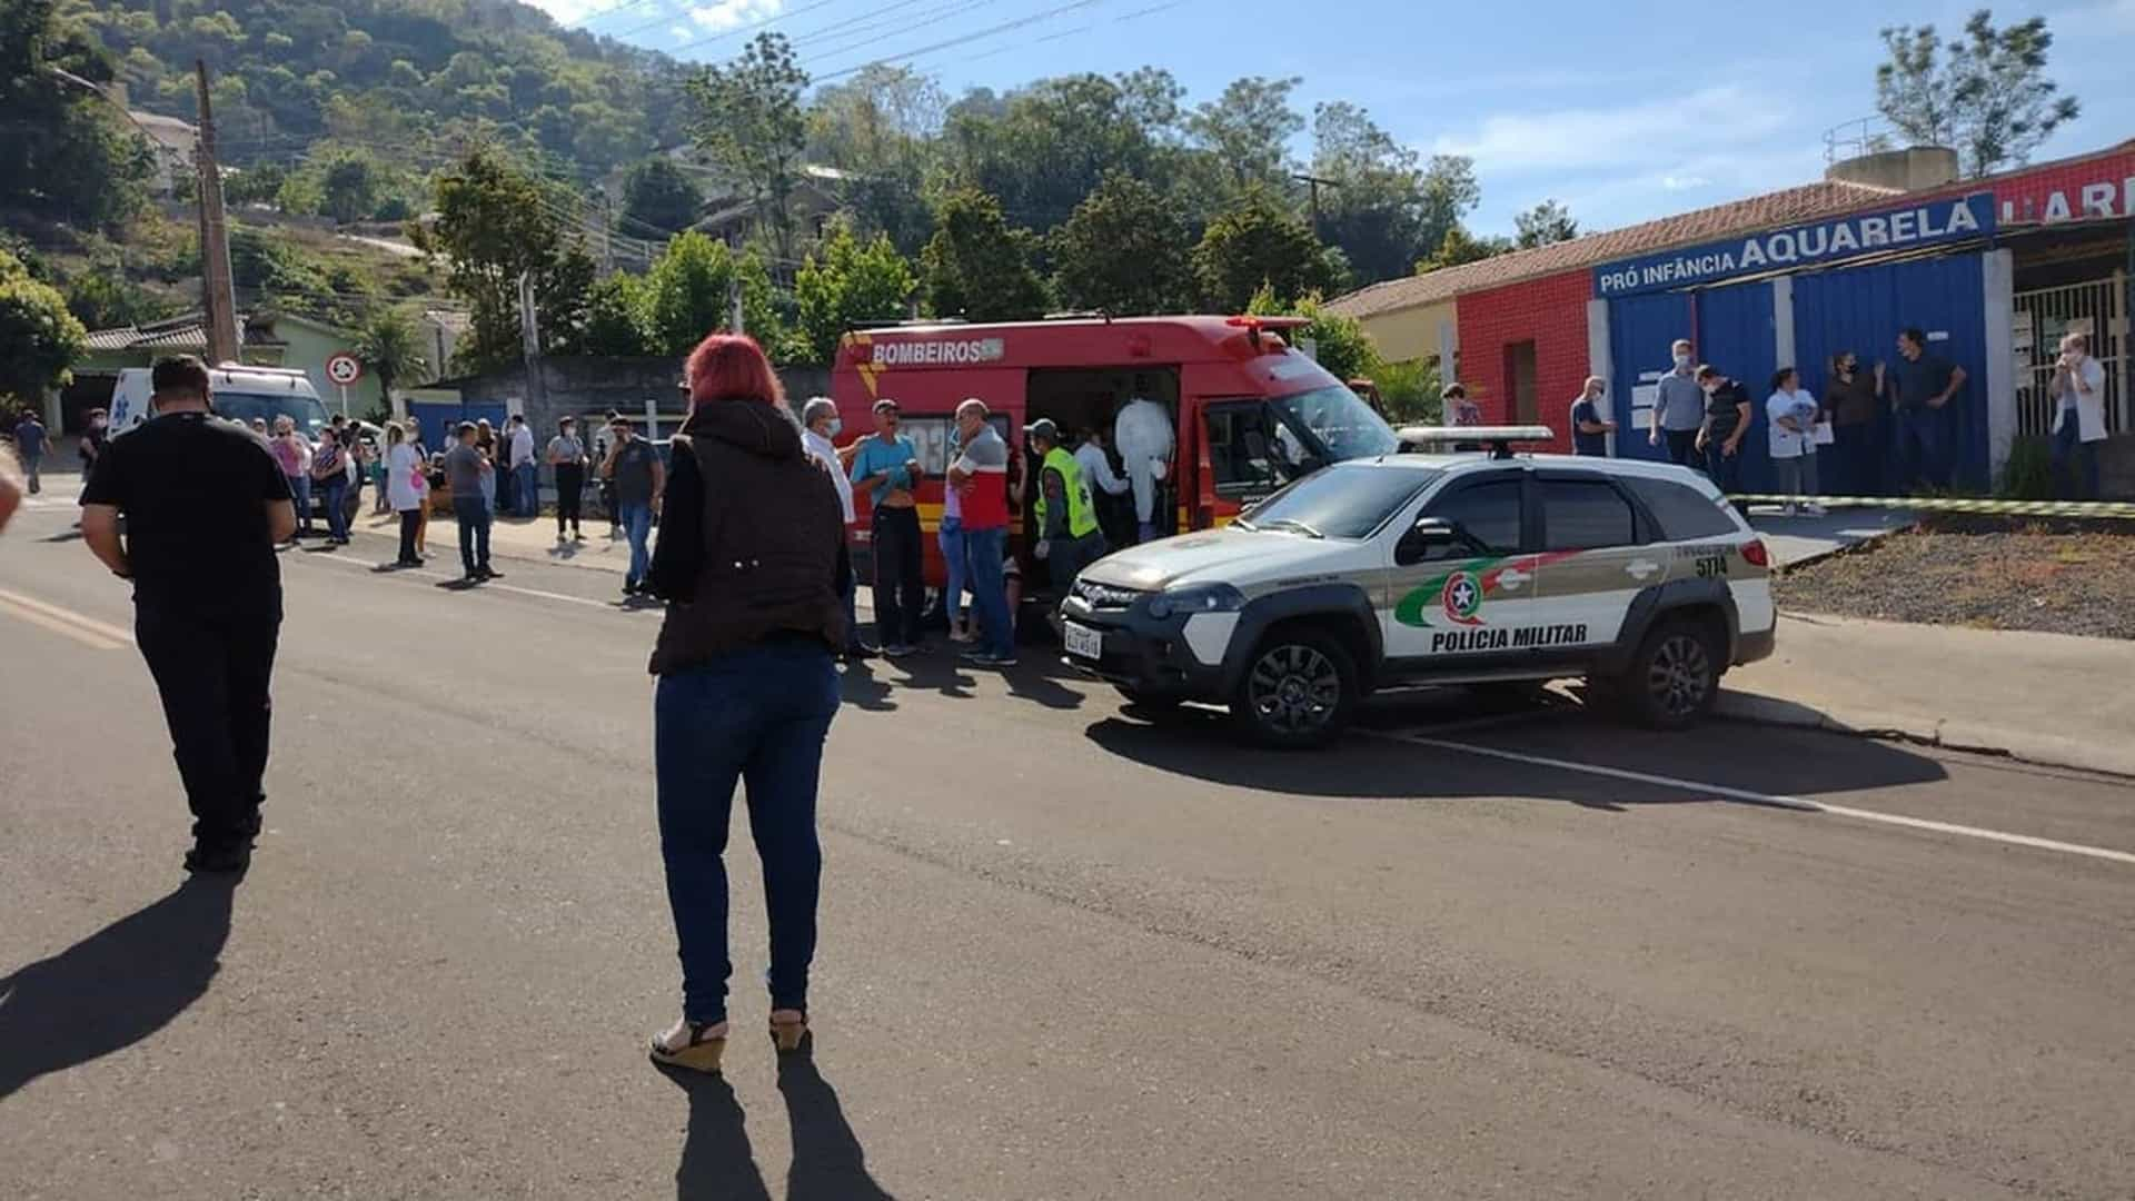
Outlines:
{"label": "distant tree-covered hillside at the upper left", "polygon": [[517,0],[68,0],[139,109],[190,120],[216,73],[233,167],[292,167],[314,143],[433,167],[476,135],[591,177],[683,139],[683,66],[564,30]]}

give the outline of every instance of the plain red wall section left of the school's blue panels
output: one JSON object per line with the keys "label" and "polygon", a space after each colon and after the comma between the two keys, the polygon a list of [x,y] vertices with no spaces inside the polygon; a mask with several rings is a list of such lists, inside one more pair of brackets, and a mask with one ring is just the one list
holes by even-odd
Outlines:
{"label": "plain red wall section left of the school's blue panels", "polygon": [[1535,342],[1535,417],[1556,432],[1550,449],[1571,451],[1571,397],[1593,370],[1586,363],[1591,269],[1565,271],[1460,297],[1460,383],[1482,404],[1488,423],[1507,423],[1512,383],[1507,346]]}

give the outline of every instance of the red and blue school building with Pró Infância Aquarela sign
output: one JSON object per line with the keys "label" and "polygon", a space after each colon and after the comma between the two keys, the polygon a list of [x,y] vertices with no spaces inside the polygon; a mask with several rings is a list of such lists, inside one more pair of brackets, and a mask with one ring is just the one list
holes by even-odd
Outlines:
{"label": "red and blue school building with Pr\u00f3 Inf\u00e2ncia Aquarela sign", "polygon": [[[1776,368],[1823,393],[1832,355],[1896,359],[1900,329],[1962,365],[1951,404],[1956,483],[1992,489],[2054,427],[2060,338],[2105,365],[2103,494],[2135,498],[2129,400],[2135,141],[1958,180],[1936,147],[1836,162],[1825,180],[1349,293],[1390,361],[1437,359],[1488,421],[1544,423],[1569,449],[1586,376],[1610,380],[1614,455],[1646,444],[1670,342],[1740,378],[1759,402]],[[1445,363],[1454,368],[1443,370]],[[1887,425],[1887,419],[1885,419]],[[1887,440],[1887,432],[1883,432]],[[1744,487],[1772,485],[1766,440],[1742,442]]]}

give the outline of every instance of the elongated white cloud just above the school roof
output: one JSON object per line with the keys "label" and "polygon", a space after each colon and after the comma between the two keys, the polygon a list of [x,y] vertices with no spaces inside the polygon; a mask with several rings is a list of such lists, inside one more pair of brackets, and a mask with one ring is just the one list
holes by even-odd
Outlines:
{"label": "elongated white cloud just above the school roof", "polygon": [[1501,113],[1467,135],[1439,137],[1433,150],[1467,154],[1482,173],[1633,167],[1770,139],[1791,122],[1776,100],[1727,85],[1614,109]]}

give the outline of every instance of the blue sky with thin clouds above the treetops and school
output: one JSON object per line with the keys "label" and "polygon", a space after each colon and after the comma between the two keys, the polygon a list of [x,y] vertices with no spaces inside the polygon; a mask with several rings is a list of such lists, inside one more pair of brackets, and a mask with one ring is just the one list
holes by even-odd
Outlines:
{"label": "blue sky with thin clouds above the treetops and school", "polygon": [[[1712,205],[1823,171],[1823,132],[1875,115],[1877,30],[1962,28],[1977,4],[1791,0],[1721,15],[1704,2],[1418,4],[1326,0],[532,0],[566,24],[681,58],[732,56],[756,28],[796,38],[813,75],[899,58],[956,94],[1042,75],[1170,68],[1189,103],[1240,75],[1300,75],[1300,111],[1351,100],[1420,152],[1475,158],[1482,209],[1559,199],[1584,229]],[[2050,0],[2054,2],[2054,0]],[[1065,9],[1065,11],[1059,11]],[[1996,6],[2043,13],[2052,77],[2084,103],[2037,158],[2135,137],[2135,0]],[[698,43],[698,45],[692,45]],[[1300,154],[1309,147],[1300,141]]]}

